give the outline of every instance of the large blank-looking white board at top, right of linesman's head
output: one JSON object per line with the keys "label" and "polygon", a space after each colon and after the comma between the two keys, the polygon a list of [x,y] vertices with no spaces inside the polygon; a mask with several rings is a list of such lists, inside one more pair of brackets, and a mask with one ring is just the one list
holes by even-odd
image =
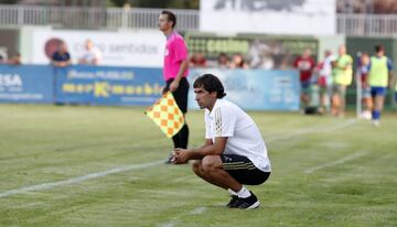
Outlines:
{"label": "large blank-looking white board at top, right of linesman's head", "polygon": [[201,0],[203,32],[331,35],[335,0]]}

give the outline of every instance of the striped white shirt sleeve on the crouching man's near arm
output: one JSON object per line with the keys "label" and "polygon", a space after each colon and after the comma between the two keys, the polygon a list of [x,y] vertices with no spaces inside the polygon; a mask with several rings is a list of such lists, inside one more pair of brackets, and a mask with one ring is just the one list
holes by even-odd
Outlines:
{"label": "striped white shirt sleeve on the crouching man's near arm", "polygon": [[225,107],[218,107],[214,111],[215,137],[233,137],[236,127],[236,115],[230,115]]}

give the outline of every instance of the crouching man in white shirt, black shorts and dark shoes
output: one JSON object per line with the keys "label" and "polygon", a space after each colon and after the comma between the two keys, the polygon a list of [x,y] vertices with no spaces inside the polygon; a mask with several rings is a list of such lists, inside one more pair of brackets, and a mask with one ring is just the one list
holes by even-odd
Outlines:
{"label": "crouching man in white shirt, black shorts and dark shoes", "polygon": [[205,144],[197,149],[175,149],[173,163],[194,160],[192,167],[197,176],[230,193],[227,207],[258,207],[260,202],[244,184],[262,184],[271,172],[259,129],[238,106],[222,99],[226,94],[216,76],[204,74],[193,87],[195,100],[205,109]]}

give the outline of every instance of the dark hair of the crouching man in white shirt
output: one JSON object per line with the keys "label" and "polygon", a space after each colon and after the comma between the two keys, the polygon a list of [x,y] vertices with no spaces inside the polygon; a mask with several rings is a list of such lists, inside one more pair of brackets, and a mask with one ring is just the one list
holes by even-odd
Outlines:
{"label": "dark hair of the crouching man in white shirt", "polygon": [[196,80],[193,84],[194,88],[201,88],[203,87],[208,93],[216,91],[217,98],[223,98],[226,96],[225,89],[222,85],[222,82],[212,74],[204,74],[196,78]]}

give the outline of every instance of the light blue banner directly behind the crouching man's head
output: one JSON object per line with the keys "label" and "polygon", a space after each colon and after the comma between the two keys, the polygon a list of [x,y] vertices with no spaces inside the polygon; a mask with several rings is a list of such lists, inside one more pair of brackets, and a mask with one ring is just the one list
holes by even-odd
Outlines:
{"label": "light blue banner directly behind the crouching man's head", "polygon": [[[190,83],[205,73],[217,76],[225,87],[225,99],[246,110],[299,110],[299,72],[262,69],[194,69]],[[194,90],[189,94],[189,108],[197,109]]]}

